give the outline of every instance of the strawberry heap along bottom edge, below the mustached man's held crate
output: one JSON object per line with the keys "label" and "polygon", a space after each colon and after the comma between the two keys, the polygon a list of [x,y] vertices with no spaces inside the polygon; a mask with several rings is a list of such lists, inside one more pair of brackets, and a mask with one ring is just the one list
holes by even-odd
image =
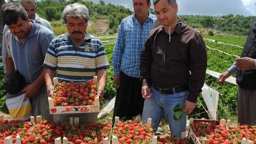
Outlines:
{"label": "strawberry heap along bottom edge, below the mustached man's held crate", "polygon": [[69,123],[60,124],[44,120],[36,124],[31,131],[22,131],[18,134],[22,138],[22,144],[54,144],[58,137],[66,137],[73,144],[102,144],[102,140],[110,136],[110,130],[111,126],[105,124],[71,126]]}

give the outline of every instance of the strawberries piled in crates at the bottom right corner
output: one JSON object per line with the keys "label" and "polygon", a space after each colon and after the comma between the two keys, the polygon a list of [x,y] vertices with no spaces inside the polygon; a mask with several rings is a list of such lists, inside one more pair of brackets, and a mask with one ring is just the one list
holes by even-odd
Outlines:
{"label": "strawberries piled in crates at the bottom right corner", "polygon": [[227,129],[224,125],[214,123],[194,123],[190,127],[201,142],[206,138],[209,144],[231,144],[241,143],[241,140],[246,138],[256,144],[256,128],[252,128],[251,125]]}

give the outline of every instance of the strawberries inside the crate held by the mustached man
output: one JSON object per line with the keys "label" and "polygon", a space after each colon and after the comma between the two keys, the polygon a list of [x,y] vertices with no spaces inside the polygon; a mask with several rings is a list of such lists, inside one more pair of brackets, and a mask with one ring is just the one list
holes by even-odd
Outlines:
{"label": "strawberries inside the crate held by the mustached man", "polygon": [[85,83],[66,82],[59,83],[52,95],[54,106],[81,106],[95,105],[97,95],[95,81]]}

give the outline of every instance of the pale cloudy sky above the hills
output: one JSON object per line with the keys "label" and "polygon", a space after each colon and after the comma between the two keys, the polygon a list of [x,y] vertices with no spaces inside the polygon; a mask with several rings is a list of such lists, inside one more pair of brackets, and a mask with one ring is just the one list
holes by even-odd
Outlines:
{"label": "pale cloudy sky above the hills", "polygon": [[[89,0],[88,0],[89,1]],[[92,0],[99,3],[100,0]],[[132,0],[103,0],[106,4],[132,8]],[[151,0],[151,3],[153,0]],[[256,16],[256,0],[177,0],[178,15],[244,15]],[[153,4],[152,4],[153,8]],[[133,11],[133,8],[132,8]]]}

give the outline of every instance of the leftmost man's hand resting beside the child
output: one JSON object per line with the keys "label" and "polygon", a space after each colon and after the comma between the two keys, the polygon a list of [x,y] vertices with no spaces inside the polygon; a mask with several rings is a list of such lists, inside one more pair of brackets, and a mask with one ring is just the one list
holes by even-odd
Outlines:
{"label": "leftmost man's hand resting beside the child", "polygon": [[38,92],[39,92],[39,87],[37,87],[36,85],[29,84],[27,85],[25,88],[23,88],[22,92],[26,92],[23,101],[26,101],[27,98],[31,99],[35,96],[37,96]]}

